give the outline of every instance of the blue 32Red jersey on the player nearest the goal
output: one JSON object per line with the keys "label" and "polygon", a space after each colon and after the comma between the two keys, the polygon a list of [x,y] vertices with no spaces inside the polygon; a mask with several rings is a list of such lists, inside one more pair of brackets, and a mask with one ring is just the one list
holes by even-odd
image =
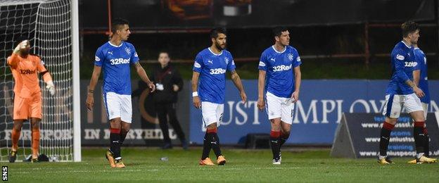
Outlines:
{"label": "blue 32Red jersey on the player nearest the goal", "polygon": [[130,95],[129,64],[137,62],[139,62],[139,56],[137,56],[136,49],[127,42],[122,42],[120,46],[107,42],[99,47],[94,58],[94,65],[102,67],[103,70],[102,92]]}

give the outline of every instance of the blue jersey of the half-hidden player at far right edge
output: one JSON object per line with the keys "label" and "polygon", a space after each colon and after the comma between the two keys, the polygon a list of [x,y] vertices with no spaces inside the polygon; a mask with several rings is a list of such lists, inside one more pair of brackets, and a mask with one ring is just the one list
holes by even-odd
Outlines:
{"label": "blue jersey of the half-hidden player at far right edge", "polygon": [[430,103],[430,92],[428,92],[428,77],[427,77],[427,58],[419,48],[414,48],[414,58],[416,59],[416,66],[414,66],[414,70],[420,70],[421,75],[419,78],[419,88],[424,91],[425,96],[421,97],[421,102]]}

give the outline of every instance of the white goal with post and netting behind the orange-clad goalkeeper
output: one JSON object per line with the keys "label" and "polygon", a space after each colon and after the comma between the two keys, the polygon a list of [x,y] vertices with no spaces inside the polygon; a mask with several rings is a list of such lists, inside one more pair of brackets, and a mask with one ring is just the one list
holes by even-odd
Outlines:
{"label": "white goal with post and netting behind the orange-clad goalkeeper", "polygon": [[[0,161],[8,160],[13,127],[13,77],[6,58],[25,35],[41,56],[56,87],[42,87],[40,154],[52,161],[81,161],[79,27],[77,0],[0,0]],[[30,155],[30,123],[24,122],[17,160]]]}

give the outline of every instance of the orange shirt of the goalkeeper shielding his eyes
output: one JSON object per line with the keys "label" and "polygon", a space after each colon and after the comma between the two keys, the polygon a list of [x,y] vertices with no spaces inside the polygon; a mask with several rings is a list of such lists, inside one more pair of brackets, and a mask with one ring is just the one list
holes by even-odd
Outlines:
{"label": "orange shirt of the goalkeeper shielding his eyes", "polygon": [[46,68],[38,56],[27,55],[27,58],[22,58],[20,55],[12,53],[8,57],[8,65],[11,67],[15,81],[15,95],[29,98],[35,92],[41,91],[38,72],[45,72]]}

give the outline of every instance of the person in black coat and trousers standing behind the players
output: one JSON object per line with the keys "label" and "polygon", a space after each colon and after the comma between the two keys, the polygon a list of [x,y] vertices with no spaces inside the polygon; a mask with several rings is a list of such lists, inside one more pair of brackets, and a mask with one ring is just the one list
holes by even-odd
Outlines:
{"label": "person in black coat and trousers standing behind the players", "polygon": [[167,116],[169,122],[174,128],[177,137],[182,141],[183,149],[188,148],[184,132],[177,120],[175,113],[175,103],[177,103],[177,92],[183,89],[183,80],[177,68],[170,64],[170,56],[167,52],[162,51],[158,55],[160,65],[153,69],[151,81],[155,83],[156,91],[153,93],[155,110],[157,111],[160,129],[163,132],[165,144],[163,149],[171,149],[171,139],[169,136],[169,127],[167,126]]}

